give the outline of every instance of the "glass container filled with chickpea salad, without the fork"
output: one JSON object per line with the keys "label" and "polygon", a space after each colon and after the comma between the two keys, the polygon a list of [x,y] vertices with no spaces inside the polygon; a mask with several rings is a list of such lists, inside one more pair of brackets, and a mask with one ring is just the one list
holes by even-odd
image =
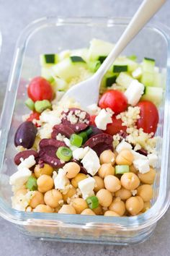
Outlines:
{"label": "glass container filled with chickpea salad, without the fork", "polygon": [[48,18],[19,38],[1,116],[0,208],[24,234],[143,242],[168,208],[164,27],[148,25],[125,48],[97,104],[63,98],[97,72],[126,24]]}

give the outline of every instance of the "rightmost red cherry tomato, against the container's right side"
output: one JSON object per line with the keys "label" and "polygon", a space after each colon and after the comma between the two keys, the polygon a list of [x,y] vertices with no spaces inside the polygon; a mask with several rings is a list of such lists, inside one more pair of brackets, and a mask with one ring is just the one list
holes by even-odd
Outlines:
{"label": "rightmost red cherry tomato, against the container's right side", "polygon": [[137,106],[140,107],[140,119],[137,121],[137,127],[143,128],[143,132],[155,134],[158,126],[158,109],[151,101],[140,101]]}

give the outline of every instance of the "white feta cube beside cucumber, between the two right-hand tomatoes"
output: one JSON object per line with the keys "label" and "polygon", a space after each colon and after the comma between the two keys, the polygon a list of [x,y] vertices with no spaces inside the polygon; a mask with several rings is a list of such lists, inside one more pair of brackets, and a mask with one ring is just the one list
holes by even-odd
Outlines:
{"label": "white feta cube beside cucumber, between the two right-hand tomatoes", "polygon": [[144,89],[144,85],[138,80],[130,82],[128,89],[124,93],[128,99],[128,104],[135,106],[143,95]]}

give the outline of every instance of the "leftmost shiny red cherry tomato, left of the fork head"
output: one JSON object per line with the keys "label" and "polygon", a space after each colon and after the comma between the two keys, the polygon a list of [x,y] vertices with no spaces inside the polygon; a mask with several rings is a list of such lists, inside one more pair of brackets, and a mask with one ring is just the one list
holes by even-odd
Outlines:
{"label": "leftmost shiny red cherry tomato, left of the fork head", "polygon": [[53,90],[50,82],[43,77],[35,77],[31,80],[27,88],[27,94],[32,101],[51,101],[53,99]]}

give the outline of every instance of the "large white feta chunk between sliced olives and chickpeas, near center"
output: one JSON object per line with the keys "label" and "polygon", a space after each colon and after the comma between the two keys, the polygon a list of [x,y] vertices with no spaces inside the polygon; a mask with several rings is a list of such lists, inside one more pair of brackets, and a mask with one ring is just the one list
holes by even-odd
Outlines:
{"label": "large white feta chunk between sliced olives and chickpeas, near center", "polygon": [[86,168],[86,171],[94,176],[97,171],[100,168],[99,158],[97,156],[97,153],[89,148],[88,152],[84,156],[84,158],[81,160],[81,163],[83,163],[84,168]]}

